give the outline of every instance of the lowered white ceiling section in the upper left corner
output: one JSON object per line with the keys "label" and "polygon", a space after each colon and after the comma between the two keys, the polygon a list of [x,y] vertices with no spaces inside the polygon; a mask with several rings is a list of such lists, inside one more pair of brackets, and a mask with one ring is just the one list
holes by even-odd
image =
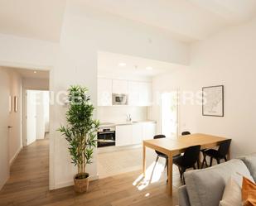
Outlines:
{"label": "lowered white ceiling section in the upper left corner", "polygon": [[0,0],[0,33],[60,41],[65,0]]}

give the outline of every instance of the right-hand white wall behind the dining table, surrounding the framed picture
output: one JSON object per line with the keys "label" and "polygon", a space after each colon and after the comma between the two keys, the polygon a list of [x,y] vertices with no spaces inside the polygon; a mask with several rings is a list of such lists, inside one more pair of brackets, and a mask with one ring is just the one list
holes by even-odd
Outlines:
{"label": "right-hand white wall behind the dining table, surrounding the framed picture", "polygon": [[[180,88],[200,91],[225,85],[225,117],[203,117],[201,106],[180,107],[180,131],[205,132],[232,138],[232,156],[255,152],[256,134],[256,19],[191,46],[191,67],[153,79],[156,94]],[[157,117],[157,106],[151,116]]]}

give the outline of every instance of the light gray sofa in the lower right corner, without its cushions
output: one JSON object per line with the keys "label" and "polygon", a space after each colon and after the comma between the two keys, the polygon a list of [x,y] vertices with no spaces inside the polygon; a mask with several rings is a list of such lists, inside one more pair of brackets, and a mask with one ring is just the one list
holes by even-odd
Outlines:
{"label": "light gray sofa in the lower right corner, without its cushions", "polygon": [[256,181],[256,153],[229,160],[204,170],[185,173],[186,185],[179,188],[180,206],[219,206],[225,184],[232,175]]}

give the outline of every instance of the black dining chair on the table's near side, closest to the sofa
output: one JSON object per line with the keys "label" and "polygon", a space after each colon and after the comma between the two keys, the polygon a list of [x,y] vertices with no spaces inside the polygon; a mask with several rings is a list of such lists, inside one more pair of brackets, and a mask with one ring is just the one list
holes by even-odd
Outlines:
{"label": "black dining chair on the table's near side, closest to the sofa", "polygon": [[198,160],[198,156],[200,154],[200,146],[190,146],[186,148],[183,156],[177,156],[173,158],[173,164],[177,165],[180,171],[181,180],[185,184],[184,180],[184,172],[189,169],[193,168],[196,170],[196,162]]}

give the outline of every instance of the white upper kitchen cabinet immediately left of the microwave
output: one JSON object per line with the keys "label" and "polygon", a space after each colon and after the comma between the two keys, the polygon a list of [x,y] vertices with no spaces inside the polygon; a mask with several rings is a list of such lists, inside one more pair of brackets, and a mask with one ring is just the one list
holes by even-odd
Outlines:
{"label": "white upper kitchen cabinet immediately left of the microwave", "polygon": [[98,106],[112,105],[112,79],[98,79]]}

